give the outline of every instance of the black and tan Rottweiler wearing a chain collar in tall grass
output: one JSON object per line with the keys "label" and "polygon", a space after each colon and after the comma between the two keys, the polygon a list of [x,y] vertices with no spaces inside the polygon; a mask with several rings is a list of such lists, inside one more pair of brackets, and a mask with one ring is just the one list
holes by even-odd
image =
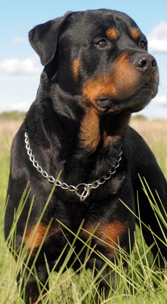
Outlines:
{"label": "black and tan Rottweiler wearing a chain collar in tall grass", "polygon": [[[32,251],[31,268],[46,236],[35,263],[38,278],[46,286],[43,293],[49,289],[44,253],[51,270],[66,240],[72,244],[81,223],[75,252],[83,247],[81,240],[91,237],[94,251],[88,268],[95,263],[100,271],[104,266],[97,251],[112,262],[118,244],[129,254],[138,203],[146,243],[150,246],[155,240],[154,257],[166,258],[159,240],[164,236],[138,174],[145,177],[153,195],[157,190],[164,209],[166,181],[145,141],[128,126],[131,113],[148,105],[158,91],[158,66],[147,51],[146,37],[128,15],[98,9],[67,12],[37,25],[30,30],[29,41],[44,70],[36,99],[12,143],[5,238],[29,182],[31,191],[17,223],[15,243],[19,250],[33,199],[24,243]],[[164,215],[160,203],[158,207]],[[68,250],[67,246],[57,267]],[[74,270],[84,263],[85,250],[73,264]],[[106,278],[99,285],[106,296],[108,273],[106,267],[102,272]],[[30,276],[26,303],[35,303],[38,297],[36,279]]]}

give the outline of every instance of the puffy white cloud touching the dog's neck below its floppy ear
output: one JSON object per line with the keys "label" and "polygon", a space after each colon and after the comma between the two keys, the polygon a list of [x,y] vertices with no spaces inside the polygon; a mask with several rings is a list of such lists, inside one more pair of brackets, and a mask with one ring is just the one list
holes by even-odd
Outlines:
{"label": "puffy white cloud touching the dog's neck below its floppy ear", "polygon": [[0,72],[5,74],[31,75],[41,72],[41,65],[38,56],[4,59],[0,62]]}

